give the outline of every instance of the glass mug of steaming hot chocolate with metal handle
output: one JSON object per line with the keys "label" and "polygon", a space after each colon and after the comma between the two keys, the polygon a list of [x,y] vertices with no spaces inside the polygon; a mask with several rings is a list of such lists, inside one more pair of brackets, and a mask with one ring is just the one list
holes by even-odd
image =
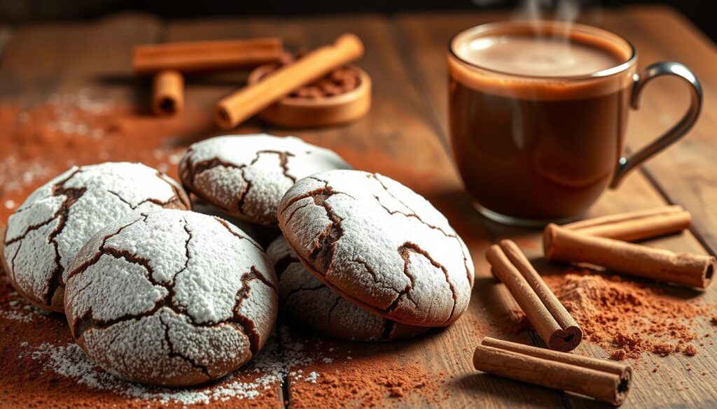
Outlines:
{"label": "glass mug of steaming hot chocolate with metal handle", "polygon": [[[504,21],[460,32],[448,52],[453,155],[478,211],[542,226],[581,215],[605,188],[680,139],[702,105],[697,78],[678,62],[637,74],[635,47],[597,27]],[[690,107],[667,133],[621,155],[627,114],[655,77],[690,88]]]}

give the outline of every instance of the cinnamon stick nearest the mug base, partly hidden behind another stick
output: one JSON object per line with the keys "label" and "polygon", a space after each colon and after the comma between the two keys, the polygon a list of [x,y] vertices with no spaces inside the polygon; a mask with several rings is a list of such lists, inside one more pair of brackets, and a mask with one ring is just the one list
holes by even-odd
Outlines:
{"label": "cinnamon stick nearest the mug base, partly hidden behind another stick", "polygon": [[640,241],[683,231],[690,227],[691,219],[690,212],[675,205],[589,218],[561,227],[592,236]]}

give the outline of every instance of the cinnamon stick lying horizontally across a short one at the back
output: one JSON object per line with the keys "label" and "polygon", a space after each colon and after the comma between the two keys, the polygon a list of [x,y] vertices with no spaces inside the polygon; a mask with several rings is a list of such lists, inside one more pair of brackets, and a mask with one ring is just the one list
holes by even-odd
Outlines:
{"label": "cinnamon stick lying horizontally across a short one at the back", "polygon": [[207,72],[254,67],[278,62],[283,56],[279,38],[148,44],[134,48],[132,66],[138,74],[166,69]]}

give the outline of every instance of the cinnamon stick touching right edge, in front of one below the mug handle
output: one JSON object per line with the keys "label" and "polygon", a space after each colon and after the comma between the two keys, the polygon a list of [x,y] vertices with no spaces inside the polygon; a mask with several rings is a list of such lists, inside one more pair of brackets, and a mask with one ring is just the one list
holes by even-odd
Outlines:
{"label": "cinnamon stick touching right edge, in front of one below the mug handle", "polygon": [[543,231],[543,251],[548,261],[589,263],[625,274],[707,288],[713,279],[715,258],[675,253],[639,244],[581,234],[555,224]]}

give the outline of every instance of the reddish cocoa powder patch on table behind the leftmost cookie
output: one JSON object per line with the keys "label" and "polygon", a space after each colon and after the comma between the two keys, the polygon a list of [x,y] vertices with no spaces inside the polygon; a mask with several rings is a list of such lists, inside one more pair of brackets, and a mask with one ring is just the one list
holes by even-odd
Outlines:
{"label": "reddish cocoa powder patch on table behind the leftmost cookie", "polygon": [[138,115],[82,92],[51,95],[30,107],[0,105],[0,225],[30,192],[72,165],[128,160],[176,178],[186,146],[217,133],[205,112],[185,111]]}

